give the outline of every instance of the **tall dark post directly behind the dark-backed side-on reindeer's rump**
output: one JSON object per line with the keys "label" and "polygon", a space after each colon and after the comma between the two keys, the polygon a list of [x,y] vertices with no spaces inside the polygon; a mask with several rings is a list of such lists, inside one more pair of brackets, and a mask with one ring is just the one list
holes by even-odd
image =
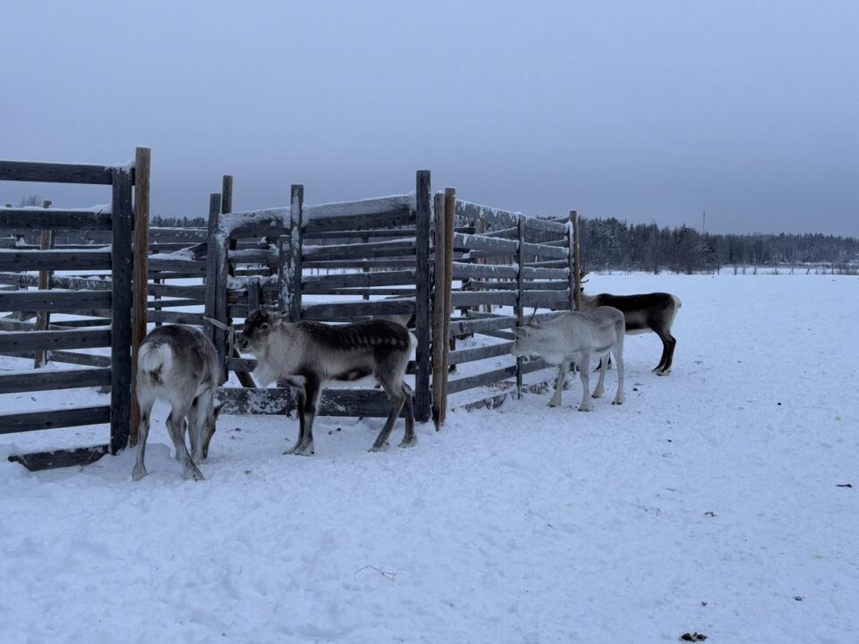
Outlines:
{"label": "tall dark post directly behind the dark-backed side-on reindeer's rump", "polygon": [[414,330],[418,338],[414,361],[414,418],[427,422],[429,401],[429,170],[415,177]]}

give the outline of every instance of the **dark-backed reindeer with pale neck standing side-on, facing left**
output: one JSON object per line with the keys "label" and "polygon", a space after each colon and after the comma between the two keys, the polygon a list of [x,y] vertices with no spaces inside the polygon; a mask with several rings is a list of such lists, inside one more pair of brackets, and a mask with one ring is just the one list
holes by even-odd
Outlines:
{"label": "dark-backed reindeer with pale neck standing side-on, facing left", "polygon": [[253,375],[266,386],[285,380],[299,391],[299,435],[286,453],[313,453],[313,419],[319,393],[331,380],[350,381],[373,376],[391,401],[391,412],[371,451],[384,449],[405,405],[405,435],[400,447],[417,441],[414,433],[412,389],[403,381],[416,340],[403,325],[370,319],[347,325],[287,322],[277,313],[256,310],[236,338],[240,351],[257,359]]}

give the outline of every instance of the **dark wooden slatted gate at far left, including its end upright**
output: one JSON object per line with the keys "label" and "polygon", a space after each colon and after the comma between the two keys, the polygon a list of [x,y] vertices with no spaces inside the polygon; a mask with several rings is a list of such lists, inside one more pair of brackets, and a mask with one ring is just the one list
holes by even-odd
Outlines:
{"label": "dark wooden slatted gate at far left, including its end upright", "polygon": [[88,386],[110,386],[110,404],[51,408],[44,395],[40,411],[0,414],[0,434],[37,429],[71,428],[110,423],[110,442],[55,452],[10,456],[30,470],[85,464],[128,443],[132,381],[132,184],[133,168],[0,161],[0,181],[109,185],[111,208],[0,208],[0,229],[21,231],[105,231],[110,250],[0,250],[0,272],[93,271],[109,273],[109,291],[47,290],[0,292],[0,312],[98,310],[109,326],[86,328],[50,325],[45,330],[0,318],[0,354],[31,357],[34,352],[110,347],[109,367],[27,370],[0,373],[0,394],[48,392]]}

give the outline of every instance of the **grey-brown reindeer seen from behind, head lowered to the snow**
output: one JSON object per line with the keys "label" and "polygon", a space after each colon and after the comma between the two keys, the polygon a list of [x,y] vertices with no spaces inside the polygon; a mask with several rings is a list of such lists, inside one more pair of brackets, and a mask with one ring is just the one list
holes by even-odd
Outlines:
{"label": "grey-brown reindeer seen from behind, head lowered to the snow", "polygon": [[[149,436],[149,414],[156,399],[170,403],[167,430],[182,462],[185,478],[202,480],[196,462],[208,456],[220,406],[215,406],[220,368],[217,352],[208,338],[190,326],[159,326],[143,338],[137,360],[137,402],[140,426],[137,463],[132,478],[146,476],[143,458]],[[187,420],[187,423],[186,423]],[[185,428],[191,437],[191,454],[185,446]]]}

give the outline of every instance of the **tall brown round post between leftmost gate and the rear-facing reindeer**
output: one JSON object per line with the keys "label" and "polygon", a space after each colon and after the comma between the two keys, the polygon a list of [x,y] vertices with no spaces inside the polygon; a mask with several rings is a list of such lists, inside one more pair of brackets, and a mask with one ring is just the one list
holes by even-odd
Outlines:
{"label": "tall brown round post between leftmost gate and the rear-facing reindeer", "polygon": [[129,445],[137,445],[140,407],[137,404],[137,352],[146,337],[146,310],[149,292],[149,168],[151,150],[134,152],[134,268],[132,272],[132,408]]}

